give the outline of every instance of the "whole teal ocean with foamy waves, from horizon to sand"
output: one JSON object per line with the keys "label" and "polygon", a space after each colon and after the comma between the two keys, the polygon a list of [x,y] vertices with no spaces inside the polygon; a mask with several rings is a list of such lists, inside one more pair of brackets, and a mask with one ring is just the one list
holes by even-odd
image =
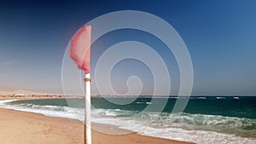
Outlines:
{"label": "whole teal ocean with foamy waves, from horizon to sand", "polygon": [[[154,102],[165,99],[159,112]],[[182,113],[172,112],[177,99],[189,99]],[[92,97],[92,122],[178,141],[256,143],[256,96]],[[131,101],[113,104],[113,101]],[[6,100],[0,107],[46,116],[84,119],[84,99]],[[115,134],[118,135],[118,134]]]}

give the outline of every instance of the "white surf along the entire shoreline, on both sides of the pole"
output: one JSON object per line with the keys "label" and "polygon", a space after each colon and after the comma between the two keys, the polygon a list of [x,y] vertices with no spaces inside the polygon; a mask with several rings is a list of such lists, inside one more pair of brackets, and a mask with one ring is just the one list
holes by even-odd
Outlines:
{"label": "white surf along the entire shoreline, on both sides of the pole", "polygon": [[[15,100],[7,100],[0,101],[0,107],[15,109],[18,111],[25,112],[37,112],[42,113],[46,116],[51,117],[61,117],[61,118],[77,118],[79,120],[84,119],[84,110],[79,108],[71,108],[71,107],[58,107],[58,106],[38,106],[38,105],[29,105],[22,106],[12,106],[6,104],[7,102],[11,102]],[[59,111],[56,111],[58,109]],[[102,112],[102,113],[101,113]],[[105,113],[104,113],[105,112]],[[116,117],[119,113],[129,113],[130,111],[124,110],[104,110],[104,109],[96,109],[92,110],[92,122],[100,123],[100,124],[112,124],[116,125],[119,128],[123,128],[126,130],[137,131],[142,135],[150,135],[155,137],[161,137],[166,139],[172,139],[177,141],[192,141],[199,144],[205,143],[219,143],[219,144],[253,144],[256,143],[256,139],[252,137],[241,137],[233,134],[224,134],[219,132],[213,132],[210,130],[196,130],[198,127],[196,125],[196,118],[205,118],[201,123],[204,123],[206,127],[211,127],[212,124],[223,123],[225,124],[228,121],[234,121],[234,125],[232,129],[240,127],[239,118],[229,118],[223,116],[210,116],[210,115],[200,115],[200,114],[189,114],[184,113],[183,116],[179,116],[179,123],[172,123],[172,119],[175,118],[175,115],[168,115],[156,121],[150,125],[147,125],[147,121],[142,121],[141,119],[130,119],[130,118],[119,118]],[[130,112],[131,113],[131,112]],[[148,114],[150,118],[157,117],[158,114],[152,112]],[[253,122],[254,123],[254,122]],[[194,125],[195,127],[183,127],[183,124]],[[189,129],[188,129],[189,128]]]}

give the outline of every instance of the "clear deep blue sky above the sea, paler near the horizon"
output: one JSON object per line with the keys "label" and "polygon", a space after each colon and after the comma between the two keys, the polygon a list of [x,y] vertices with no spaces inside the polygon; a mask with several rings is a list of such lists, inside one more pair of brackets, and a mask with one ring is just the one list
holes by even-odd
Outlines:
{"label": "clear deep blue sky above the sea, paler near the horizon", "polygon": [[[253,0],[1,2],[0,84],[61,93],[62,57],[74,32],[97,16],[130,9],[159,16],[183,37],[194,66],[192,95],[256,95],[255,8]],[[95,43],[91,56],[100,55],[110,43],[123,40],[154,47],[166,61],[172,73],[172,89],[177,90],[179,76],[172,53],[160,49],[163,44],[146,33],[111,32]],[[92,68],[97,56],[94,57]],[[127,72],[125,67],[134,63],[141,69]],[[121,89],[122,93],[126,86],[123,80],[137,74],[147,83],[144,93],[150,93],[153,81],[148,80],[151,74],[146,66],[126,60],[115,69],[113,87],[117,91]]]}

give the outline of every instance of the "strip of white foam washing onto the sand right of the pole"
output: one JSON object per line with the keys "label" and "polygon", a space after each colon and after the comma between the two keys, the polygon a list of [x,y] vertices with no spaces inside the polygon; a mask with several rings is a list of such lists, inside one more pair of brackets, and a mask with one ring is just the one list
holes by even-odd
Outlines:
{"label": "strip of white foam washing onto the sand right of the pole", "polygon": [[[223,134],[207,130],[185,130],[182,128],[154,128],[150,125],[143,125],[134,120],[124,120],[119,118],[96,118],[94,122],[100,124],[112,124],[125,130],[137,131],[142,135],[155,136],[177,141],[191,141],[198,144],[219,143],[219,144],[254,144],[253,138],[239,137],[236,135]],[[117,134],[116,134],[117,135]],[[119,134],[121,135],[121,134]]]}

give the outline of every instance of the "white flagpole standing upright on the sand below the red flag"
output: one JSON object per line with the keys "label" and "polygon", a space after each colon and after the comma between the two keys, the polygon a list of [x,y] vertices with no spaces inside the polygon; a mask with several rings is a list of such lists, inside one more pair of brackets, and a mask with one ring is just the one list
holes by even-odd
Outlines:
{"label": "white flagpole standing upright on the sand below the red flag", "polygon": [[90,73],[85,74],[85,113],[84,113],[84,144],[91,144],[91,122],[90,122]]}

